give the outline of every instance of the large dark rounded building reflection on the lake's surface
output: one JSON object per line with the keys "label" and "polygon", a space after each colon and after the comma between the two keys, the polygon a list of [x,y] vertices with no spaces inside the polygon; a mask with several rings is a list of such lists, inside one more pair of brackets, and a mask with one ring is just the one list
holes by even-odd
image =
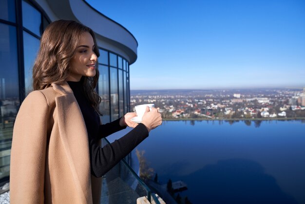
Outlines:
{"label": "large dark rounded building reflection on the lake's surface", "polygon": [[[175,163],[172,169],[186,163]],[[274,177],[251,160],[229,159],[209,164],[185,176],[163,176],[183,180],[188,184],[188,196],[193,204],[297,204],[284,193]],[[196,182],[194,182],[196,181]]]}

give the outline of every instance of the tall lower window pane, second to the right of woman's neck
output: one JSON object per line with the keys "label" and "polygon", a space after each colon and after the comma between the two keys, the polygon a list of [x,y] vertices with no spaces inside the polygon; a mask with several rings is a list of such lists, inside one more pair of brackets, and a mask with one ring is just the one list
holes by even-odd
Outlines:
{"label": "tall lower window pane, second to the right of woman's neck", "polygon": [[111,121],[114,121],[118,119],[117,68],[110,68],[110,87]]}

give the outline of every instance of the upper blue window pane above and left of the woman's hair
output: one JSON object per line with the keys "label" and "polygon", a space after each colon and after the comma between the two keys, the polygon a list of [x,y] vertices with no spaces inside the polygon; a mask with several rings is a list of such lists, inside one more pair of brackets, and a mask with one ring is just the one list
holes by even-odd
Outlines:
{"label": "upper blue window pane above and left of the woman's hair", "polygon": [[22,22],[25,28],[38,36],[41,35],[41,13],[24,0],[22,1]]}

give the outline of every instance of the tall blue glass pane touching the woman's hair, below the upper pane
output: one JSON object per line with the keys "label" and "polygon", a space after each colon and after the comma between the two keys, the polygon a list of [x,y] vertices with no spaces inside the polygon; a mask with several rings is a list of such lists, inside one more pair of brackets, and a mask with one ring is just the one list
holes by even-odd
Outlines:
{"label": "tall blue glass pane touching the woman's hair, below the upper pane", "polygon": [[25,96],[32,91],[33,65],[39,49],[39,40],[23,31]]}

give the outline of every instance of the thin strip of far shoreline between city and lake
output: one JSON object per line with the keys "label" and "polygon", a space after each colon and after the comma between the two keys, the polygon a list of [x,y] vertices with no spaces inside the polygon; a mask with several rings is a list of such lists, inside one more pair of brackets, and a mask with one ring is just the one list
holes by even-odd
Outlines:
{"label": "thin strip of far shoreline between city and lake", "polygon": [[162,118],[163,121],[302,121],[305,117],[295,118],[226,118],[226,119],[208,119],[208,118]]}

